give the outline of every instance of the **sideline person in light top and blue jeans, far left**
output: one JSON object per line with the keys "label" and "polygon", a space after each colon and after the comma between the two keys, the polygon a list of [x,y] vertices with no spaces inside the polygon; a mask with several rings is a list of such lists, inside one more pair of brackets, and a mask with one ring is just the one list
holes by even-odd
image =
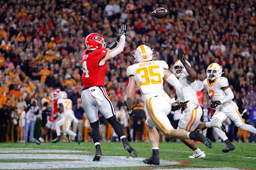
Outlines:
{"label": "sideline person in light top and blue jeans, far left", "polygon": [[39,114],[39,107],[37,106],[37,100],[35,98],[31,99],[30,104],[27,107],[28,112],[26,113],[26,122],[25,122],[25,134],[24,139],[28,142],[28,129],[29,131],[29,142],[32,142],[34,137],[34,129],[36,125],[36,115]]}

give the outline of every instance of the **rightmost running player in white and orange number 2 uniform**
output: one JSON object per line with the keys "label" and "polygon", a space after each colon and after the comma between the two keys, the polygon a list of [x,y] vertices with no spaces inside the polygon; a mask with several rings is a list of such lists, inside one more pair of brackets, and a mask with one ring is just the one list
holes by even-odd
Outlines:
{"label": "rightmost running player in white and orange number 2 uniform", "polygon": [[[228,79],[221,77],[222,73],[222,68],[217,63],[210,64],[206,70],[207,78],[204,80],[204,86],[212,99],[211,107],[216,109],[212,119],[218,118],[223,122],[229,117],[240,129],[256,134],[256,129],[252,125],[244,123],[236,103],[232,101],[234,94],[229,88]],[[223,131],[217,128],[213,129],[227,145],[222,152],[226,153],[235,149]]]}

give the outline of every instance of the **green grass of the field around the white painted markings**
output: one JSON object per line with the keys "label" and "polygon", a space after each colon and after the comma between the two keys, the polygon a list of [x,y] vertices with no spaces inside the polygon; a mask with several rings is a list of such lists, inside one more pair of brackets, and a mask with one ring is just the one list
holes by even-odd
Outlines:
{"label": "green grass of the field around the white painted markings", "polygon": [[[138,157],[149,157],[151,155],[150,143],[131,143],[138,152]],[[252,143],[234,143],[236,149],[234,151],[223,153],[221,150],[225,147],[225,143],[213,143],[212,149],[207,148],[204,144],[197,144],[197,146],[205,151],[205,159],[189,159],[188,156],[193,154],[183,143],[160,143],[159,144],[159,157],[160,159],[172,159],[181,162],[182,164],[176,166],[150,166],[150,168],[162,169],[162,168],[192,168],[192,167],[239,167],[256,169],[256,144]],[[70,152],[61,154],[89,154],[94,155],[93,143],[43,143],[37,145],[34,143],[1,143],[0,147],[4,148],[35,148],[36,150],[68,150]],[[15,150],[15,149],[14,149]],[[18,149],[17,149],[18,150]],[[32,149],[31,149],[32,150]],[[102,158],[107,155],[113,156],[130,156],[127,151],[124,150],[122,143],[101,143]],[[77,152],[76,151],[93,151],[93,152]],[[1,150],[0,150],[1,152]],[[19,162],[19,159],[4,159],[4,154],[0,156],[0,162]],[[14,153],[15,154],[15,153]],[[25,154],[25,153],[24,153]],[[27,154],[27,153],[26,153]],[[36,153],[33,153],[36,154]],[[45,154],[45,153],[40,153]],[[52,153],[54,154],[54,153]],[[58,153],[60,154],[60,153]],[[43,161],[40,158],[38,161]],[[34,162],[35,159],[22,159],[20,162]],[[134,158],[137,159],[137,158]],[[65,160],[63,158],[63,160]],[[49,159],[45,161],[51,161]],[[55,161],[58,161],[56,159]],[[90,160],[91,161],[91,160]],[[191,163],[188,163],[191,162]],[[91,162],[93,164],[94,162]],[[148,167],[129,167],[128,169],[148,169]],[[0,167],[2,169],[2,167]],[[92,168],[91,168],[92,169]],[[97,168],[102,169],[102,168]],[[104,169],[104,168],[103,168]],[[113,167],[107,169],[127,169],[121,167]]]}

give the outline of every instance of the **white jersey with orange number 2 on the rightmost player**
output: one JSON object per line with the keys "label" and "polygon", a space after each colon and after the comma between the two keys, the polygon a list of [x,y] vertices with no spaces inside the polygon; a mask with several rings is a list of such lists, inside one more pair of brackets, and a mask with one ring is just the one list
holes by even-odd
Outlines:
{"label": "white jersey with orange number 2 on the rightmost player", "polygon": [[[205,78],[204,86],[207,89],[212,101],[221,100],[226,97],[225,92],[221,88],[228,86],[228,79],[225,77],[219,77],[216,78],[212,84],[210,84],[209,79]],[[230,100],[226,103],[218,105],[216,109],[228,113],[238,109],[238,107],[234,101]]]}

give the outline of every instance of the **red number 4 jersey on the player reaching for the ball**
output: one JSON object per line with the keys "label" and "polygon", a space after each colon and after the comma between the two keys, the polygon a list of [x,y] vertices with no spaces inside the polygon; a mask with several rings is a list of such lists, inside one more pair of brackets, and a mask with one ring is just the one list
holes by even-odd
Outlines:
{"label": "red number 4 jersey on the player reaching for the ball", "polygon": [[100,60],[107,54],[106,48],[99,48],[86,54],[86,50],[82,53],[83,88],[92,86],[104,86],[104,80],[107,70],[107,64],[99,66]]}

